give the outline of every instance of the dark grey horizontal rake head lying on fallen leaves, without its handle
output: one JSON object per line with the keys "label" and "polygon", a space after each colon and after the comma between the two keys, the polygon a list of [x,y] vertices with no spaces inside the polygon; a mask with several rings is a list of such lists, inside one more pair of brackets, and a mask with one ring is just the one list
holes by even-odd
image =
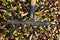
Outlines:
{"label": "dark grey horizontal rake head lying on fallen leaves, without its handle", "polygon": [[[20,25],[31,25],[31,26],[48,26],[48,25],[53,25],[52,23],[50,22],[39,22],[39,21],[30,21],[30,20],[27,20],[27,21],[18,21],[18,20],[8,20],[7,23],[6,23],[6,26],[7,25],[17,25],[17,26],[20,26]],[[54,24],[56,26],[58,26],[58,24]]]}

